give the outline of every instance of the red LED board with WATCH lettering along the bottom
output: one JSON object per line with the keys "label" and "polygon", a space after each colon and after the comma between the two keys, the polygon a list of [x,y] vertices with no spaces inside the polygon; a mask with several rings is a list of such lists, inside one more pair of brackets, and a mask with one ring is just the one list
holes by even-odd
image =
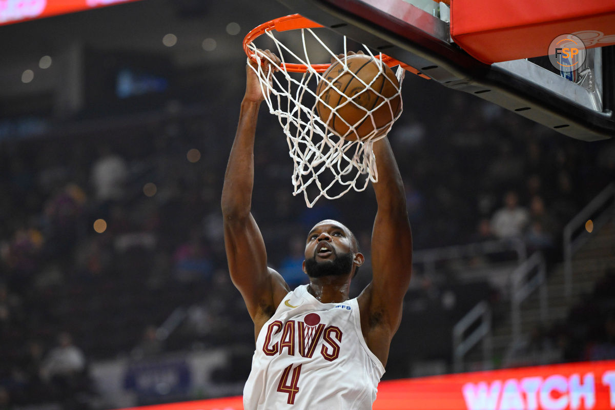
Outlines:
{"label": "red LED board with WATCH lettering along the bottom", "polygon": [[[243,408],[236,396],[125,410]],[[615,360],[387,380],[378,385],[373,406],[373,410],[556,409],[615,409]]]}

